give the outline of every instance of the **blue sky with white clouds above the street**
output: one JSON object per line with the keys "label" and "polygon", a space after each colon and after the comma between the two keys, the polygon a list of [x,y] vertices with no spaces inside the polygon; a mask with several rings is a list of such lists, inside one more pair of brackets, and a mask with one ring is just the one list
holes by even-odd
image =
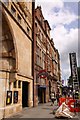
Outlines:
{"label": "blue sky with white clouds above the street", "polygon": [[[68,0],[67,0],[68,1]],[[51,38],[60,53],[61,78],[70,76],[69,53],[76,52],[79,66],[79,4],[78,0],[37,0],[35,6],[41,6],[43,16],[51,27]]]}

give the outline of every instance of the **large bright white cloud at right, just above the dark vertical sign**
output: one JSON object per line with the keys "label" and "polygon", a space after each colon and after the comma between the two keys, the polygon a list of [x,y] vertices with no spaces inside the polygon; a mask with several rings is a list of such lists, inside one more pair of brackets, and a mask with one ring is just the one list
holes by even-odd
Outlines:
{"label": "large bright white cloud at right, just above the dark vertical sign", "polygon": [[[78,29],[67,30],[63,25],[58,25],[51,32],[55,46],[60,53],[64,51],[78,51]],[[70,49],[69,49],[70,48]]]}

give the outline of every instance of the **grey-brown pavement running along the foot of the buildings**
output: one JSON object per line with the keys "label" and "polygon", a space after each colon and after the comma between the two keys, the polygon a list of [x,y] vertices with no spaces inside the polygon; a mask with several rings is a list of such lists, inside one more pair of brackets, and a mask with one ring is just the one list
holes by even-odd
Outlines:
{"label": "grey-brown pavement running along the foot of the buildings", "polygon": [[[23,118],[27,118],[27,119],[31,118],[31,120],[33,118],[37,118],[37,119],[41,118],[41,120],[42,118],[43,120],[45,118],[46,118],[45,120],[62,120],[62,118],[60,119],[55,118],[55,114],[53,114],[53,109],[57,109],[57,107],[58,106],[56,105],[51,106],[51,102],[45,104],[39,104],[37,107],[32,107],[32,108],[26,107],[23,108],[21,112],[14,114],[13,116],[9,117],[6,120],[18,120],[19,118],[20,120],[23,120]],[[64,118],[64,119],[69,120],[68,118],[67,119]],[[80,120],[80,113],[77,113],[76,116],[72,118],[72,120]]]}

